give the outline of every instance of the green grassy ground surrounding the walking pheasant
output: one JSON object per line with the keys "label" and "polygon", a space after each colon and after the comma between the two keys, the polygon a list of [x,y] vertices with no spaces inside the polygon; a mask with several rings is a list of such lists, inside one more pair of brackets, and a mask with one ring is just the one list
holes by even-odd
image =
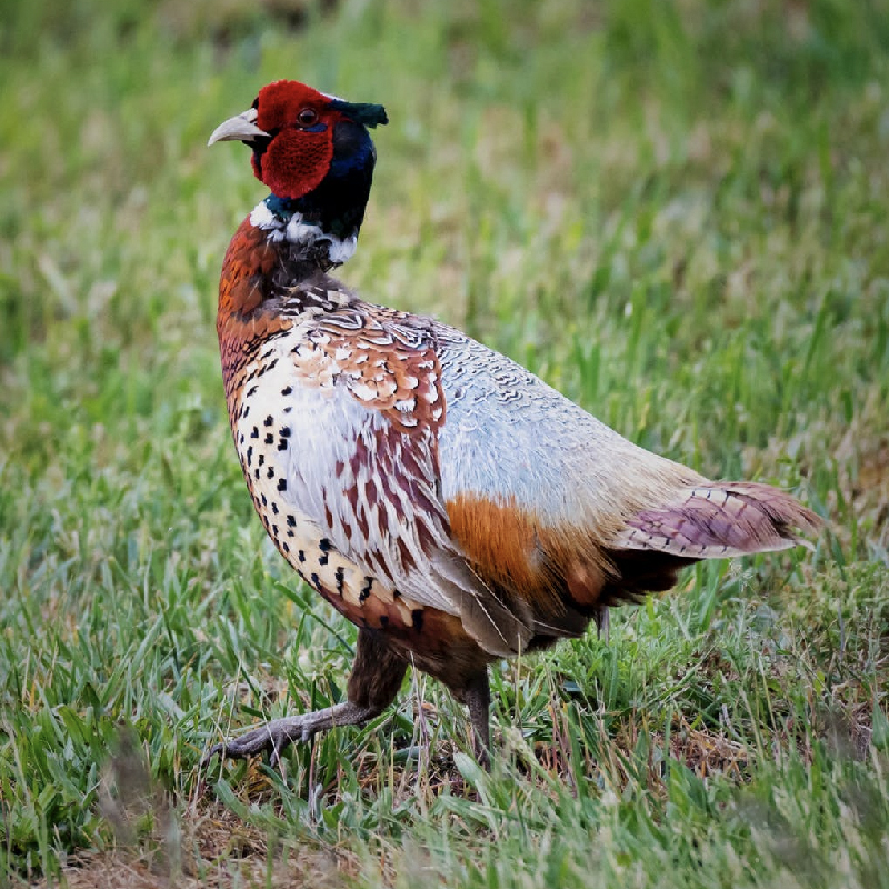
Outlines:
{"label": "green grassy ground surrounding the walking pheasant", "polygon": [[[183,8],[186,11],[183,11]],[[889,886],[889,7],[10,0],[0,23],[0,885]],[[343,278],[640,443],[795,490],[800,549],[493,671],[498,756],[343,693],[252,515],[213,332],[268,80],[387,104]]]}

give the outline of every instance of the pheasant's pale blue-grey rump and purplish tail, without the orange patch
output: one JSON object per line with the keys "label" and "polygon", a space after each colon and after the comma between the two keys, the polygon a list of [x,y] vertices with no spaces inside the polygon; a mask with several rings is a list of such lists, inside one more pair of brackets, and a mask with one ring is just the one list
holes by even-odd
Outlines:
{"label": "pheasant's pale blue-grey rump and purplish tail, without the orange patch", "polygon": [[711,482],[622,438],[525,368],[439,327],[448,401],[444,498],[511,499],[541,526],[580,527],[608,550],[715,558],[786,549],[820,520],[790,495]]}

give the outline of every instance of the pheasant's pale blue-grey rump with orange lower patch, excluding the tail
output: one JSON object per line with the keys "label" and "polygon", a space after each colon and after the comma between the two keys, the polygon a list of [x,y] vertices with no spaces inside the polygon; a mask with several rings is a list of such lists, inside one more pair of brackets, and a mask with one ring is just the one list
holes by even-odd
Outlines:
{"label": "pheasant's pale blue-grey rump with orange lower patch, excluding the tail", "polygon": [[485,573],[503,575],[508,562],[530,596],[560,590],[595,603],[627,522],[706,479],[637,447],[505,356],[451,328],[437,333],[448,399],[442,491],[458,540]]}

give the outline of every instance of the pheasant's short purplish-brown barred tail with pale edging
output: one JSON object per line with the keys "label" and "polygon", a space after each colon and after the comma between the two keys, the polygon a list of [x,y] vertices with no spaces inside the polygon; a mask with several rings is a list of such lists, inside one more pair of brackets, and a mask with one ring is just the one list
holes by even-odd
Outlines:
{"label": "pheasant's short purplish-brown barred tail with pale edging", "polygon": [[639,512],[627,522],[616,549],[648,550],[686,559],[719,559],[771,552],[799,543],[821,519],[790,495],[757,482],[698,485],[685,499]]}

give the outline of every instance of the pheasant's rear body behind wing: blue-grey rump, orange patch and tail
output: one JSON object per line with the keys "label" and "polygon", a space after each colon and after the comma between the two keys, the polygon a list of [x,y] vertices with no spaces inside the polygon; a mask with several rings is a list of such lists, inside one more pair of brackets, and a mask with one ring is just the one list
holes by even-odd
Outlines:
{"label": "pheasant's rear body behind wing: blue-grey rump, orange patch and tail", "polygon": [[711,482],[599,422],[525,368],[437,327],[442,492],[457,541],[546,631],[667,589],[696,559],[785,549],[817,517],[766,485]]}

